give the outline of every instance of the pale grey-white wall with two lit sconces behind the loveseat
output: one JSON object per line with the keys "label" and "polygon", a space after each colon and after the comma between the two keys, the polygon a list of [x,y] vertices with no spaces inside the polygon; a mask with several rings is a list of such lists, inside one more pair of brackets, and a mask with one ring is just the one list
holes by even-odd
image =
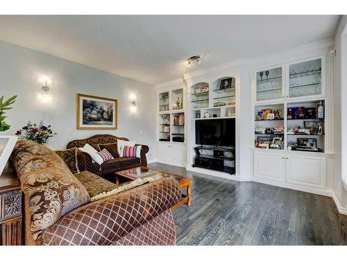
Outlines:
{"label": "pale grey-white wall with two lit sconces behind the loveseat", "polygon": [[[42,101],[38,82],[42,75],[52,81],[49,103]],[[117,99],[118,129],[77,130],[77,93]],[[137,112],[130,112],[130,94],[137,96]],[[149,145],[148,159],[155,159],[155,89],[151,85],[0,41],[2,95],[5,98],[18,95],[18,98],[7,114],[6,122],[11,128],[1,135],[13,135],[28,120],[38,123],[44,119],[58,132],[49,141],[51,148],[66,148],[73,139],[108,133]]]}

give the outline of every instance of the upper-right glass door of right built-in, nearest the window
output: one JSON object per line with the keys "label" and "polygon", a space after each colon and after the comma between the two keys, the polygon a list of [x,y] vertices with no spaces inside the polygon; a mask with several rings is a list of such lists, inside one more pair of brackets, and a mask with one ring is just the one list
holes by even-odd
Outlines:
{"label": "upper-right glass door of right built-in, nearest the window", "polygon": [[289,66],[289,98],[322,93],[321,59]]}

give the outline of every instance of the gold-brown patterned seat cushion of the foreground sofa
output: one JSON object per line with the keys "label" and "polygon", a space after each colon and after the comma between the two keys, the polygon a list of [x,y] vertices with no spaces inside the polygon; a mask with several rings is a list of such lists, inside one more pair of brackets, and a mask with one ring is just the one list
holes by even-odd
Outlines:
{"label": "gold-brown patterned seat cushion of the foreground sofa", "polygon": [[83,184],[90,198],[93,198],[94,196],[103,192],[112,191],[112,189],[118,187],[116,184],[109,182],[108,180],[105,180],[94,173],[90,173],[89,171],[82,171],[75,176],[77,180]]}

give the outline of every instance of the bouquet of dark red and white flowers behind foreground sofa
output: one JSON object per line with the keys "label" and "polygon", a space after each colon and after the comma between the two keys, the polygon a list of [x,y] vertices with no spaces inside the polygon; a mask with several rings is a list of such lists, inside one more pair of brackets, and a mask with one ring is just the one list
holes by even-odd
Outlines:
{"label": "bouquet of dark red and white flowers behind foreground sofa", "polygon": [[41,121],[38,125],[37,123],[31,123],[28,121],[28,124],[25,125],[22,130],[18,130],[16,135],[23,140],[35,141],[37,144],[46,144],[49,137],[57,135],[56,132],[52,132],[51,125],[44,125]]}

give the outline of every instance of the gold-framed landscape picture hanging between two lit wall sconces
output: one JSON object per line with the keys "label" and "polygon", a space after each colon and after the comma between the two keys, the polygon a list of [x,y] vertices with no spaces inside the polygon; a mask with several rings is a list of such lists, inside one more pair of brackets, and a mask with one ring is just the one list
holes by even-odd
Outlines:
{"label": "gold-framed landscape picture hanging between two lit wall sconces", "polygon": [[117,100],[77,94],[77,129],[117,129]]}

